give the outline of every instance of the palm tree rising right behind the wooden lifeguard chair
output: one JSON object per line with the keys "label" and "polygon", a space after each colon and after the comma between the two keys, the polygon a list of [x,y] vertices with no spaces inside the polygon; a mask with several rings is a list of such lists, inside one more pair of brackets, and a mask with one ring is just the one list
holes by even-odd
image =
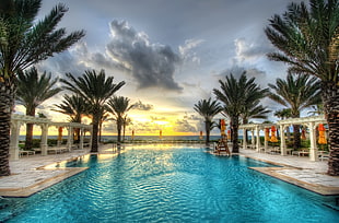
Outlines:
{"label": "palm tree rising right behind the wooden lifeguard chair", "polygon": [[213,92],[217,98],[224,104],[222,114],[231,119],[233,152],[237,153],[239,118],[243,117],[244,119],[245,117],[246,120],[250,117],[248,115],[250,114],[248,105],[254,105],[255,107],[260,108],[259,110],[262,113],[260,116],[265,115],[267,113],[266,108],[259,106],[258,103],[266,96],[268,90],[261,90],[255,83],[255,78],[247,80],[246,71],[242,73],[238,81],[231,73],[230,77],[226,77],[225,82],[219,80],[219,83],[221,90],[214,89]]}

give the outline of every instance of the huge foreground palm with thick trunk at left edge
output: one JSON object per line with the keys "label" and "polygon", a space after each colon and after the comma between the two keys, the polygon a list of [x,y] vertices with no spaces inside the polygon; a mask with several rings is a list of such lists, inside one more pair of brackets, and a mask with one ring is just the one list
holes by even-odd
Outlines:
{"label": "huge foreground palm with thick trunk at left edge", "polygon": [[17,71],[61,52],[84,36],[66,35],[57,28],[65,13],[58,4],[42,21],[35,17],[42,0],[1,0],[0,3],[0,176],[10,175],[10,121],[16,91]]}

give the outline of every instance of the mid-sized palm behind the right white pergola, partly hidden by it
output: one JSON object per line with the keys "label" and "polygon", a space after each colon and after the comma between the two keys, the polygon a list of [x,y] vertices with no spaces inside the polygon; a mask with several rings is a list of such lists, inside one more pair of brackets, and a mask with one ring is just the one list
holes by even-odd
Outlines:
{"label": "mid-sized palm behind the right white pergola, partly hidden by it", "polygon": [[[300,113],[312,105],[318,104],[320,98],[320,83],[316,78],[300,74],[296,78],[288,74],[287,80],[277,79],[276,85],[268,84],[274,92],[269,94],[269,97],[290,108],[291,117],[299,118]],[[301,146],[300,126],[293,125],[293,149]]]}

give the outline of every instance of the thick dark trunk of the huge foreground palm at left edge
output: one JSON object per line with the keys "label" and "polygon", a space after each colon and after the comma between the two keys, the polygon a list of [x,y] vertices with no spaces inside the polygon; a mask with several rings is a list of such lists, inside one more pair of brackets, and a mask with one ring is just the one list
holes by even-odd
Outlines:
{"label": "thick dark trunk of the huge foreground palm at left edge", "polygon": [[9,156],[14,94],[14,84],[0,80],[0,176],[11,175]]}

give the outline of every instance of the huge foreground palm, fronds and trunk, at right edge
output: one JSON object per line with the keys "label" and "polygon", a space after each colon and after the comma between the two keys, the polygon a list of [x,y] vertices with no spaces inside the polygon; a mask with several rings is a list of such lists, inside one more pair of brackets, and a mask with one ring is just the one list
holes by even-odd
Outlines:
{"label": "huge foreground palm, fronds and trunk, at right edge", "polygon": [[290,3],[283,15],[274,15],[266,28],[279,49],[269,58],[289,64],[289,72],[317,77],[329,128],[328,174],[339,176],[339,2],[309,0]]}

